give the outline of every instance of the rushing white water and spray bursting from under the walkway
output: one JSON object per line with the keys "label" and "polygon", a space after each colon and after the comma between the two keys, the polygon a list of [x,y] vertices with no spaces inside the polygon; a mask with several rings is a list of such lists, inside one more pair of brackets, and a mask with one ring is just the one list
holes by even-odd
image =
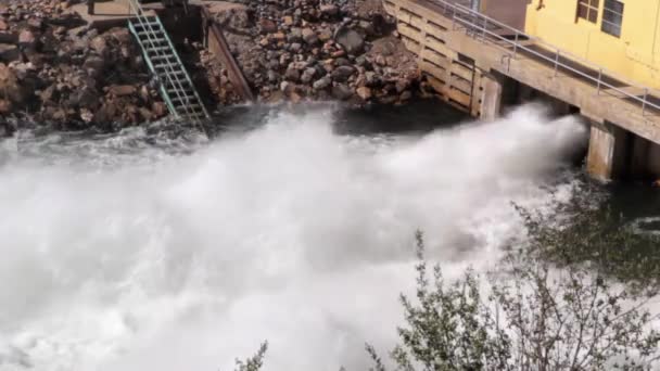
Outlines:
{"label": "rushing white water and spray bursting from under the walkway", "polygon": [[389,138],[279,113],[192,153],[139,135],[1,144],[0,370],[231,370],[263,340],[266,370],[359,370],[396,340],[414,231],[448,274],[487,267],[584,140],[532,107]]}

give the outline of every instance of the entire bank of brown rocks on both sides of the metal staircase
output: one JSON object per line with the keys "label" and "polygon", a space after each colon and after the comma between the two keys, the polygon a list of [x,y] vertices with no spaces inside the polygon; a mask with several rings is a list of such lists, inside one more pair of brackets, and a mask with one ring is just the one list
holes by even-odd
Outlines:
{"label": "entire bank of brown rocks on both sides of the metal staircase", "polygon": [[[0,135],[11,135],[17,121],[113,131],[167,115],[128,29],[90,28],[69,11],[79,1],[0,1]],[[258,102],[402,104],[426,91],[380,0],[211,7]],[[178,49],[193,79],[205,84],[208,103],[240,102],[201,42]]]}

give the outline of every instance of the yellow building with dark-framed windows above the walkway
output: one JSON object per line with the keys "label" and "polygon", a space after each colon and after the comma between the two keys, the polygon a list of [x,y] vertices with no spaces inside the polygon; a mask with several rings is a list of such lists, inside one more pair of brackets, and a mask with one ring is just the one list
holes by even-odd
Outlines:
{"label": "yellow building with dark-framed windows above the walkway", "polygon": [[525,31],[660,89],[660,0],[531,0]]}

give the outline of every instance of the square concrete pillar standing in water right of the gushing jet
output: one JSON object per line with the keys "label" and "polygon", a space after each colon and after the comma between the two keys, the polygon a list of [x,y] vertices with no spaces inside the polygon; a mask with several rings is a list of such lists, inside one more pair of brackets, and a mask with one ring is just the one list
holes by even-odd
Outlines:
{"label": "square concrete pillar standing in water right of the gushing jet", "polygon": [[623,175],[627,163],[627,132],[609,123],[592,124],[587,172],[607,181]]}

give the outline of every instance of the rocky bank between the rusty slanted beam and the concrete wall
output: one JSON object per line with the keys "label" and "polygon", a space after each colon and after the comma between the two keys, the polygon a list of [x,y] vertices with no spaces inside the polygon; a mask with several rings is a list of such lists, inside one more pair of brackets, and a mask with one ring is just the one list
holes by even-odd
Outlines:
{"label": "rocky bank between the rusty slanted beam and the concrete wall", "polygon": [[[216,18],[259,101],[398,104],[419,92],[414,54],[381,0],[237,0]],[[232,99],[225,76],[214,76],[216,92]]]}

